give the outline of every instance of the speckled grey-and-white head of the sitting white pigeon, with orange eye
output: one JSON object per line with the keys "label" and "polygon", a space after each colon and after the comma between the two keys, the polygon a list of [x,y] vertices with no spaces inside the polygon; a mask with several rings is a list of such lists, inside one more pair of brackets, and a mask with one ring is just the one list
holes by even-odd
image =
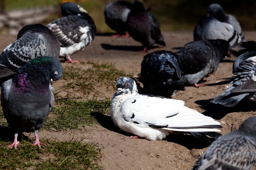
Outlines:
{"label": "speckled grey-and-white head of the sitting white pigeon, with orange eye", "polygon": [[138,93],[134,79],[130,77],[120,77],[117,82],[117,95]]}

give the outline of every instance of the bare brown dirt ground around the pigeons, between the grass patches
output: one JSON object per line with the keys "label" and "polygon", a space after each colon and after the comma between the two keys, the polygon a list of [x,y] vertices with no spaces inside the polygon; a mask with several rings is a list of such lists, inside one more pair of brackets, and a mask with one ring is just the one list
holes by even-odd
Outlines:
{"label": "bare brown dirt ground around the pigeons, between the grass patches", "polygon": [[[192,32],[162,33],[166,46],[155,46],[148,53],[157,50],[176,51],[193,40]],[[247,41],[256,40],[256,32],[245,31]],[[0,35],[0,50],[16,39],[15,35]],[[84,51],[72,55],[73,60],[112,63],[125,73],[137,76],[140,73],[141,61],[147,53],[138,52],[144,47],[132,38],[113,38],[107,34],[99,34],[94,42]],[[186,87],[174,99],[185,101],[185,106],[198,110],[220,121],[222,134],[238,129],[248,117],[256,115],[256,105],[249,101],[240,102],[233,108],[211,104],[210,100],[217,97],[229,86],[232,77],[232,64],[236,56],[232,55],[221,62],[218,70],[205,78],[206,86]],[[66,63],[63,63],[65,65]],[[83,64],[80,64],[83,65]],[[54,82],[54,88],[59,91],[62,81]],[[111,82],[115,83],[115,82]],[[112,85],[112,84],[111,84]],[[101,87],[98,87],[101,89]],[[103,96],[112,98],[115,91],[104,91]],[[60,141],[80,139],[95,144],[101,153],[99,165],[106,170],[189,170],[198,160],[206,145],[191,135],[170,135],[161,141],[146,139],[130,139],[125,132],[119,130],[111,121],[109,115],[94,115],[99,126],[88,126],[86,130],[68,130],[49,132],[42,130],[40,138],[52,138]],[[27,134],[34,137],[33,134]],[[256,170],[256,167],[254,167]]]}

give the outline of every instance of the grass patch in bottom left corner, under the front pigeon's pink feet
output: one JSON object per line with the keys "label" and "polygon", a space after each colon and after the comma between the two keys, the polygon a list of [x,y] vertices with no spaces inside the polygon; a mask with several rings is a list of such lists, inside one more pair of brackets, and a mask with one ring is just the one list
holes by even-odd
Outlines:
{"label": "grass patch in bottom left corner, under the front pigeon's pink feet", "polygon": [[47,146],[40,150],[28,141],[21,141],[17,150],[7,148],[0,141],[0,168],[4,170],[99,170],[99,152],[91,144],[81,141],[41,140]]}

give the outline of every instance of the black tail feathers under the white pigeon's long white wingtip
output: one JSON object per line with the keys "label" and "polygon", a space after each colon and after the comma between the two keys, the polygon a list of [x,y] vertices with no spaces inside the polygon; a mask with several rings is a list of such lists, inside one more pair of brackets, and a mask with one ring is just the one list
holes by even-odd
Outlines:
{"label": "black tail feathers under the white pigeon's long white wingtip", "polygon": [[190,134],[209,145],[218,139],[218,137],[222,136],[217,132],[190,132]]}

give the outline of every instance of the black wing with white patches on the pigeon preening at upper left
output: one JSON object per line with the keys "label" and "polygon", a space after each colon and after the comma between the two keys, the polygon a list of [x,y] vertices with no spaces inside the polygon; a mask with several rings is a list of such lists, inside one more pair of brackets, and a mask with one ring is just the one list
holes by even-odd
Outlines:
{"label": "black wing with white patches on the pigeon preening at upper left", "polygon": [[[90,17],[90,16],[89,16]],[[79,15],[68,15],[58,18],[47,25],[61,42],[61,46],[72,46],[82,40],[88,39],[86,44],[94,40],[96,27],[94,22],[83,20]],[[92,29],[92,28],[95,28]]]}

